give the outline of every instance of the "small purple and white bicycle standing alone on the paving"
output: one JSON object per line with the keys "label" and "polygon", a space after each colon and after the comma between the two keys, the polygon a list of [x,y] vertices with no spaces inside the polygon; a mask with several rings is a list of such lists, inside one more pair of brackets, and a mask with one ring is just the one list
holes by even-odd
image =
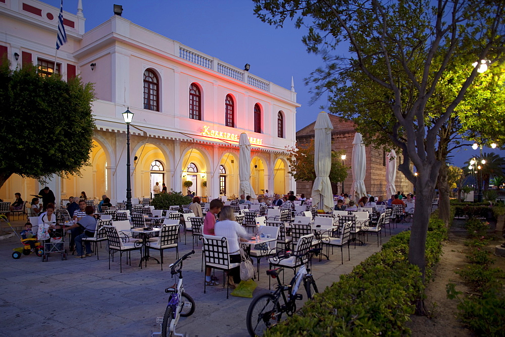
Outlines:
{"label": "small purple and white bicycle standing alone on the paving", "polygon": [[156,318],[156,322],[161,324],[161,332],[154,332],[153,336],[184,336],[183,333],[175,332],[175,326],[179,322],[180,316],[191,316],[195,309],[193,299],[184,292],[184,288],[182,286],[182,261],[192,254],[194,254],[194,250],[170,265],[170,274],[172,274],[172,277],[178,274],[177,277],[179,280],[173,287],[165,289],[165,293],[170,294],[167,309],[165,310],[165,315],[163,317]]}

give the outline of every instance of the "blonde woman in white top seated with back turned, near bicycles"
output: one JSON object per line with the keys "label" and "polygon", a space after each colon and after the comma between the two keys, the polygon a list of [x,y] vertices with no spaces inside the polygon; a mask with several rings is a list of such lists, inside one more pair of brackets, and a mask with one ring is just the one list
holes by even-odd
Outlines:
{"label": "blonde woman in white top seated with back turned, near bicycles", "polygon": [[[219,221],[216,222],[214,227],[214,235],[225,237],[228,240],[230,263],[242,261],[238,245],[239,242],[247,241],[250,235],[235,221],[235,214],[233,214],[231,206],[224,206],[221,209]],[[228,272],[228,284],[233,288],[237,283],[240,283],[240,267],[231,268]]]}

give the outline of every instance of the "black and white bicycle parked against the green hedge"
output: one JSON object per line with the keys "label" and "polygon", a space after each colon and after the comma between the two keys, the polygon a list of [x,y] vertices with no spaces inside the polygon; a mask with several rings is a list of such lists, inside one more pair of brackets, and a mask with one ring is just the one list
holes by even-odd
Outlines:
{"label": "black and white bicycle parked against the green hedge", "polygon": [[[277,278],[277,289],[270,293],[263,293],[256,296],[247,310],[246,324],[247,331],[251,336],[261,336],[265,330],[280,322],[282,313],[292,316],[296,312],[296,300],[303,297],[298,294],[301,281],[304,281],[304,288],[307,298],[312,299],[314,294],[319,293],[314,277],[305,265],[302,265],[289,285],[281,284],[279,273],[284,268],[267,270],[267,275]],[[287,296],[286,296],[287,294]],[[282,303],[281,303],[282,297]]]}

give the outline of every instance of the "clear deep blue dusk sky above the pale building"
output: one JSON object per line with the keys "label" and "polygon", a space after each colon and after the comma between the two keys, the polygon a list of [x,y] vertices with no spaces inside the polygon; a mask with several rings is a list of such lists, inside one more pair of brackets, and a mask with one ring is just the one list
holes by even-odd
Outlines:
{"label": "clear deep blue dusk sky above the pale building", "polygon": [[[60,0],[43,0],[60,7]],[[317,118],[320,99],[309,105],[311,94],[304,78],[323,65],[321,58],[309,54],[301,42],[303,29],[291,22],[276,29],[261,22],[253,13],[250,0],[82,0],[86,31],[109,19],[113,5],[123,6],[123,17],[191,48],[218,58],[235,67],[250,64],[250,73],[290,88],[294,79],[297,102],[296,130]],[[77,0],[64,0],[64,10],[77,13]],[[56,36],[55,36],[56,39]],[[342,48],[342,53],[346,51]],[[484,152],[501,151],[484,148]],[[458,166],[478,150],[465,146],[455,153],[452,162]]]}

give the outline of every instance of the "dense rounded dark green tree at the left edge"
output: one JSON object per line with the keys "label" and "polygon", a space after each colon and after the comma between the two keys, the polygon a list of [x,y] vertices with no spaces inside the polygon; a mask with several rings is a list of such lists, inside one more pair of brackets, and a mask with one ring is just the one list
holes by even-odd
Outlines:
{"label": "dense rounded dark green tree at the left edge", "polygon": [[[13,174],[78,174],[92,148],[93,86],[41,77],[35,67],[0,66],[0,187]],[[78,139],[78,141],[75,141]]]}

